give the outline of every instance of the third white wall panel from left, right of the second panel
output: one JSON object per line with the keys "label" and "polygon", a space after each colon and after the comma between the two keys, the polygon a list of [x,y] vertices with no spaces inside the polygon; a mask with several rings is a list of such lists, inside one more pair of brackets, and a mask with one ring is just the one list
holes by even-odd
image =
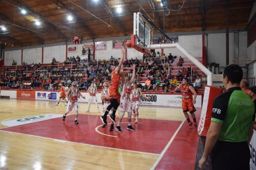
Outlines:
{"label": "third white wall panel from left, right of the second panel", "polygon": [[44,47],[44,63],[51,63],[52,58],[63,62],[66,60],[66,45]]}

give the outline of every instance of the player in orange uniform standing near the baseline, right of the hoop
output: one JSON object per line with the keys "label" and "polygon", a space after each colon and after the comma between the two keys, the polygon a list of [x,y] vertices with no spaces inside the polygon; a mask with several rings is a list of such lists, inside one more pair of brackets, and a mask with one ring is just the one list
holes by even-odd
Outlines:
{"label": "player in orange uniform standing near the baseline, right of the hoop", "polygon": [[[171,93],[177,91],[178,89],[180,89],[181,91],[181,95],[182,95],[182,109],[183,109],[183,113],[188,121],[188,126],[191,128],[192,127],[192,122],[190,122],[189,119],[189,115],[188,115],[188,111],[190,112],[193,121],[194,121],[194,127],[197,127],[197,123],[196,123],[196,115],[195,115],[195,107],[194,104],[196,103],[196,91],[194,89],[194,87],[190,86],[188,84],[188,79],[184,78],[182,80],[182,84],[177,86],[174,91],[171,91]],[[192,95],[194,95],[194,99],[192,97]]]}

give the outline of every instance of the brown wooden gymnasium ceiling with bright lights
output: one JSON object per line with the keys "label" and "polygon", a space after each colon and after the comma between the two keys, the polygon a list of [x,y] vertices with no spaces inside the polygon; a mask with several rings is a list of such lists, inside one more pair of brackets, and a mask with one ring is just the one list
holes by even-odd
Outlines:
{"label": "brown wooden gymnasium ceiling with bright lights", "polygon": [[[139,10],[144,13],[143,9],[159,28],[163,28],[160,1],[0,0],[0,27],[6,28],[6,31],[0,29],[0,42],[2,45],[13,44],[5,46],[8,48],[71,42],[71,37],[77,35],[81,35],[83,40],[130,36],[133,33],[133,13]],[[103,3],[106,2],[113,17],[104,8]],[[154,10],[150,2],[154,4]],[[179,9],[182,3],[183,0],[167,0],[171,10]],[[253,3],[254,0],[185,0],[181,10],[171,11],[169,16],[165,16],[165,32],[224,30],[227,5],[229,28],[245,29]],[[121,13],[116,12],[117,7],[122,8]],[[21,9],[27,13],[22,14]],[[68,15],[74,20],[68,21]],[[36,20],[40,26],[36,26]]]}

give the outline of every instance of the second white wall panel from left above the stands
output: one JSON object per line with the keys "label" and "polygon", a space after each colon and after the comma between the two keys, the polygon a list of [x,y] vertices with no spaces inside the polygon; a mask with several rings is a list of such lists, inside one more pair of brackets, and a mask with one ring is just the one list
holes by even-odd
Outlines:
{"label": "second white wall panel from left above the stands", "polygon": [[23,61],[28,64],[42,63],[42,47],[23,50]]}

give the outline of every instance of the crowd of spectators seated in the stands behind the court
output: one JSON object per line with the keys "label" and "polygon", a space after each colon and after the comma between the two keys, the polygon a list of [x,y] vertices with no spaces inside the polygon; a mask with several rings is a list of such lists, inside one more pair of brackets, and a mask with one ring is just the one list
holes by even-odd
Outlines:
{"label": "crowd of spectators seated in the stands behind the court", "polygon": [[[151,58],[154,57],[154,58]],[[145,77],[148,79],[145,85],[142,86],[143,90],[158,90],[158,86],[162,86],[164,92],[169,92],[169,87],[179,85],[179,81],[182,81],[183,77],[188,78],[189,83],[198,88],[202,86],[202,79],[198,76],[196,70],[192,70],[191,67],[182,67],[184,63],[182,57],[179,57],[177,65],[181,70],[177,75],[172,74],[172,63],[176,59],[176,56],[172,56],[170,53],[168,57],[164,54],[160,57],[160,53],[152,53],[150,58],[143,56],[143,61],[135,59],[126,59],[124,61],[124,67],[130,67],[136,64],[136,77],[135,82],[139,83],[142,80],[142,74],[144,71]],[[9,74],[5,77],[5,73],[0,74],[0,86],[10,87],[14,89],[34,89],[44,88],[49,90],[58,89],[58,85],[62,83],[68,87],[72,80],[78,81],[80,90],[87,90],[92,82],[96,85],[101,85],[102,81],[111,80],[111,65],[118,65],[118,59],[113,56],[108,60],[91,61],[89,65],[80,63],[80,57],[70,56],[63,65],[56,64],[55,58],[52,59],[51,65],[42,65],[40,63],[22,63],[20,69],[8,70]],[[67,64],[72,63],[72,68],[67,67]],[[11,72],[10,72],[11,71]],[[125,71],[125,75],[132,76],[132,69]],[[84,79],[87,75],[87,79]],[[144,77],[144,76],[143,76]],[[25,85],[24,81],[32,82],[29,86]],[[193,83],[194,82],[194,83]]]}

